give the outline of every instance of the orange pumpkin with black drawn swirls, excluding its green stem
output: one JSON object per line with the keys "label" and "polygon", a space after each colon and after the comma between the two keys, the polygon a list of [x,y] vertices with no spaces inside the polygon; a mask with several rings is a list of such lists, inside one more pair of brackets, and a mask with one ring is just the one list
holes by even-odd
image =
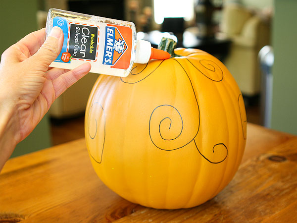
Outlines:
{"label": "orange pumpkin with black drawn swirls, excluding its green stem", "polygon": [[85,117],[100,179],[123,198],[158,209],[190,208],[217,195],[246,144],[241,92],[227,68],[196,49],[100,75]]}

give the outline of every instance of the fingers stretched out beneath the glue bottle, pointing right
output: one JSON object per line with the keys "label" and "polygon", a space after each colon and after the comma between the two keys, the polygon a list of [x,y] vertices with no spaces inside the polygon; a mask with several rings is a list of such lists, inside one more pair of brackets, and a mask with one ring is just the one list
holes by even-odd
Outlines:
{"label": "fingers stretched out beneath the glue bottle, pointing right", "polygon": [[[55,99],[59,97],[67,88],[76,83],[79,79],[89,73],[91,69],[91,64],[89,62],[84,63],[73,70],[70,70],[60,76],[56,77],[52,81],[52,85],[55,91]],[[54,69],[49,70],[52,71]],[[56,70],[57,71],[57,70]],[[63,72],[63,69],[60,69],[57,72]],[[51,77],[57,76],[56,74],[50,74]]]}

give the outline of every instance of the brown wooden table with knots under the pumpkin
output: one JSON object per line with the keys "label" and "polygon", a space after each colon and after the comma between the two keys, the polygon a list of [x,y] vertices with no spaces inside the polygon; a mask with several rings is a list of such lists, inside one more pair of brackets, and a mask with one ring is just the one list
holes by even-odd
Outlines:
{"label": "brown wooden table with knots under the pumpkin", "polygon": [[297,136],[248,124],[234,179],[192,209],[132,204],[97,177],[84,139],[10,159],[0,174],[2,222],[297,222]]}

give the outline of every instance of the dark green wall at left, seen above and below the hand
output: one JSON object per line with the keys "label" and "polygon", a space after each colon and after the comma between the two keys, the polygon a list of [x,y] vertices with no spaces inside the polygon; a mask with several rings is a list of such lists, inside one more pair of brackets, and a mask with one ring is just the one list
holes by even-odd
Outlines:
{"label": "dark green wall at left, seen above and below the hand", "polygon": [[[22,37],[37,30],[39,3],[39,0],[0,0],[0,55]],[[49,127],[49,116],[46,115],[34,131],[17,145],[12,156],[49,147]]]}

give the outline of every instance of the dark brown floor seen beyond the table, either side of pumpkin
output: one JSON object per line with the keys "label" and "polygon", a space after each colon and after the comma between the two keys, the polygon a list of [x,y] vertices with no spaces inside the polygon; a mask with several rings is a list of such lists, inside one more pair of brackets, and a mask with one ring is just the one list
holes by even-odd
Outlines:
{"label": "dark brown floor seen beyond the table, either side of pumpkin", "polygon": [[[257,104],[248,106],[247,121],[260,124],[260,109]],[[63,120],[51,120],[52,144],[58,145],[85,137],[84,115]]]}

